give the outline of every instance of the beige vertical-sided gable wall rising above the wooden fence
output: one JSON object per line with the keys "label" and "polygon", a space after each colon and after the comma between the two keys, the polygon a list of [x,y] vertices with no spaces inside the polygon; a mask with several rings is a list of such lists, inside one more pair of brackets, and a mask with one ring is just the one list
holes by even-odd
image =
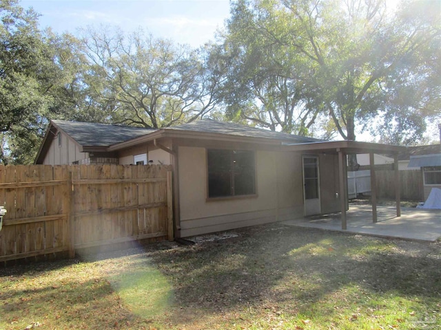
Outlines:
{"label": "beige vertical-sided gable wall rising above the wooden fence", "polygon": [[[49,138],[49,137],[48,137]],[[46,153],[43,164],[45,165],[64,165],[72,164],[89,157],[88,153],[81,153],[79,146],[61,132],[61,146],[57,135],[54,135],[50,143],[48,153]]]}

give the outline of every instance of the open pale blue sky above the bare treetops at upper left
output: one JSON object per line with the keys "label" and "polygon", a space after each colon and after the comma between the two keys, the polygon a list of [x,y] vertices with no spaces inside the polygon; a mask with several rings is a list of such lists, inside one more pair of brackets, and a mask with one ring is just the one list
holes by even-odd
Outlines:
{"label": "open pale blue sky above the bare treetops at upper left", "polygon": [[229,17],[229,0],[22,0],[20,5],[42,15],[41,28],[59,33],[100,24],[127,32],[141,27],[192,47],[214,40]]}

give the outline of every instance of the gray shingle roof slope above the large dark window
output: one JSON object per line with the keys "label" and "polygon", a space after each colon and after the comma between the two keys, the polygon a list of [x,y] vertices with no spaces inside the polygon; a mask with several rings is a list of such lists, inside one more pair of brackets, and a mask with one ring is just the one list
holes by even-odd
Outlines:
{"label": "gray shingle roof slope above the large dark window", "polygon": [[[219,133],[227,135],[236,135],[244,137],[263,137],[265,139],[283,140],[287,142],[320,142],[323,140],[314,139],[313,137],[305,137],[281,132],[268,131],[267,129],[256,129],[254,127],[243,126],[231,122],[219,122],[217,120],[203,119],[188,124],[173,126],[170,130],[177,131],[196,131],[204,133]],[[166,130],[169,130],[166,129]]]}

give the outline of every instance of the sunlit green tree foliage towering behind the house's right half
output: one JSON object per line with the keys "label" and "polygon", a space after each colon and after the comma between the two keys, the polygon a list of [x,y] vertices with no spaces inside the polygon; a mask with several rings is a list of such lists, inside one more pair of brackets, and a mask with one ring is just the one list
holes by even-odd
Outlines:
{"label": "sunlit green tree foliage towering behind the house's right half", "polygon": [[[223,56],[229,113],[309,133],[319,113],[347,140],[356,127],[416,142],[440,109],[440,3],[238,0]],[[329,131],[329,130],[328,130]]]}

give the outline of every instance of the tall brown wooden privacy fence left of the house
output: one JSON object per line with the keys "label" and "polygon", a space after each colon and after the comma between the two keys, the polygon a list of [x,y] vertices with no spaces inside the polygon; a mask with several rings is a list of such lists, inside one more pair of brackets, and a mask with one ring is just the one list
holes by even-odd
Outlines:
{"label": "tall brown wooden privacy fence left of the house", "polygon": [[0,165],[0,261],[173,239],[171,169]]}

